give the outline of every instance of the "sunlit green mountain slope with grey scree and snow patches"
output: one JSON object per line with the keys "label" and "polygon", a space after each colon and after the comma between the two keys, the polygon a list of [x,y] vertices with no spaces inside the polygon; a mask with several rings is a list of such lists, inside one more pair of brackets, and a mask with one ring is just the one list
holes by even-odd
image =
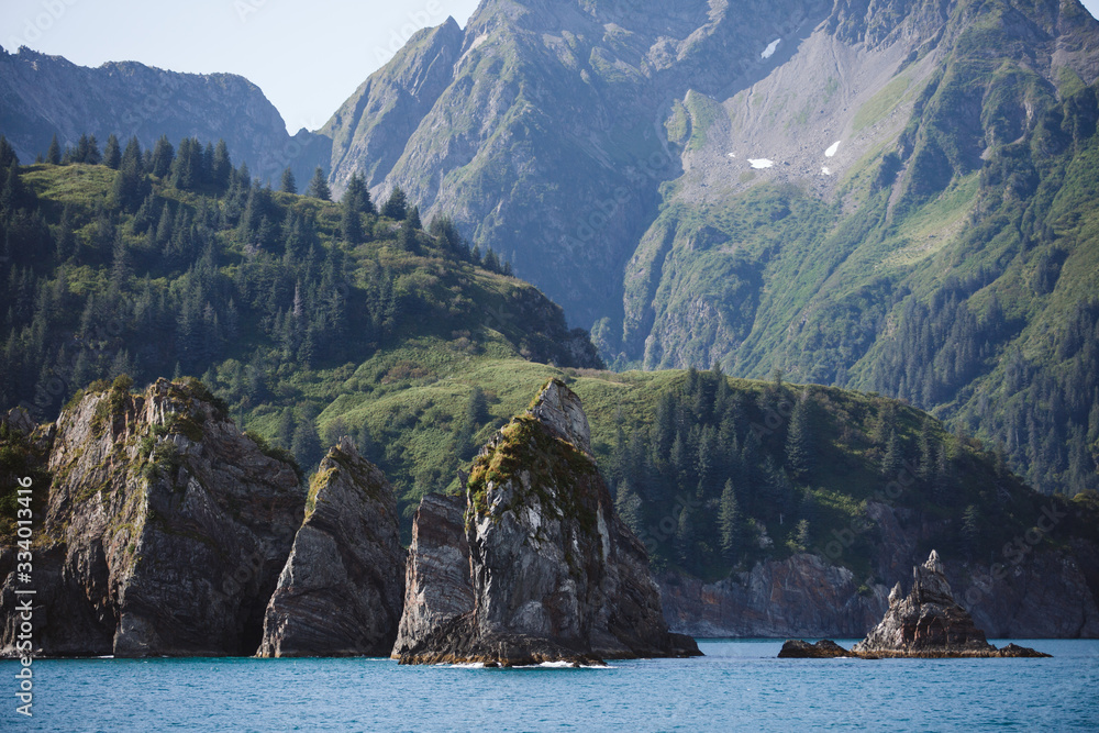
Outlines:
{"label": "sunlit green mountain slope with grey scree and snow patches", "polygon": [[622,348],[881,390],[1047,491],[1095,488],[1099,25],[961,2],[876,26],[887,9],[833,13],[684,147],[626,270]]}

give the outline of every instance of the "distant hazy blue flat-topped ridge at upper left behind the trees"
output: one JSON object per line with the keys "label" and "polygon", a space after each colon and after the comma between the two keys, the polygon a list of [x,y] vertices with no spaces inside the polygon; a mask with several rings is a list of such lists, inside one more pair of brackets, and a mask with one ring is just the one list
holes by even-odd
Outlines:
{"label": "distant hazy blue flat-topped ridge at upper left behind the trees", "polygon": [[326,164],[331,144],[306,130],[290,136],[278,110],[259,88],[233,74],[177,74],[134,62],[98,68],[77,66],[25,46],[0,48],[0,132],[20,158],[45,153],[54,135],[75,146],[95,135],[136,135],[152,147],[160,135],[197,137],[203,145],[224,140],[260,180],[278,181],[293,169],[304,182]]}

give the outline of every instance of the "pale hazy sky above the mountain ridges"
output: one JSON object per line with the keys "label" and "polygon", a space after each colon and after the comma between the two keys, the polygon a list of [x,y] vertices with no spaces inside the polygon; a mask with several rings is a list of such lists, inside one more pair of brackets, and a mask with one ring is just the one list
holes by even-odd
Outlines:
{"label": "pale hazy sky above the mountain ridges", "polygon": [[[287,127],[315,130],[415,30],[478,0],[0,0],[0,45],[84,66],[136,60],[247,77]],[[1099,0],[1085,0],[1099,15]]]}

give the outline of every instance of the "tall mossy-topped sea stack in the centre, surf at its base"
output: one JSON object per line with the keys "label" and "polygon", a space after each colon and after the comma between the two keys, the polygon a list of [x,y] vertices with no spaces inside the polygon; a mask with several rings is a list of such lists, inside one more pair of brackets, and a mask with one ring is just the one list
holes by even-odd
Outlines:
{"label": "tall mossy-topped sea stack in the centre, surf at its base", "polygon": [[459,506],[425,499],[417,515],[393,648],[402,664],[699,654],[668,632],[644,545],[614,512],[580,400],[562,381],[481,449],[460,522]]}

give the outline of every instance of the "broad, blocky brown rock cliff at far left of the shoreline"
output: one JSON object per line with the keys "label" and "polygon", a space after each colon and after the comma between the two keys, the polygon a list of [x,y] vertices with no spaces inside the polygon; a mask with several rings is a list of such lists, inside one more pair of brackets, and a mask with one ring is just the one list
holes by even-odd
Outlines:
{"label": "broad, blocky brown rock cliff at far left of the shoreline", "polygon": [[[253,654],[302,501],[198,382],[115,382],[62,412],[35,546],[35,642],[51,656]],[[10,558],[9,558],[10,559]],[[14,608],[15,574],[4,608]],[[15,620],[0,647],[13,648]]]}

